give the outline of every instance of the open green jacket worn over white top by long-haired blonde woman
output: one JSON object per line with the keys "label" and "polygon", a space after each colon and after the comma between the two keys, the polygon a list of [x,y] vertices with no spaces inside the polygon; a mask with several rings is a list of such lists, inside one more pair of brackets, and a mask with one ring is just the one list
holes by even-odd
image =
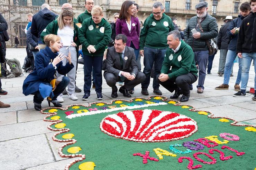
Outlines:
{"label": "open green jacket worn over white top by long-haired blonde woman", "polygon": [[[73,37],[73,41],[74,43],[76,43],[76,46],[78,47],[80,45],[80,42],[78,40],[78,30],[79,28],[76,26],[76,24],[74,23],[74,37]],[[58,26],[58,21],[54,20],[52,22],[50,22],[47,27],[43,30],[43,32],[41,33],[41,39],[44,42],[44,36],[48,35],[48,34],[55,34],[57,35],[59,26]]]}

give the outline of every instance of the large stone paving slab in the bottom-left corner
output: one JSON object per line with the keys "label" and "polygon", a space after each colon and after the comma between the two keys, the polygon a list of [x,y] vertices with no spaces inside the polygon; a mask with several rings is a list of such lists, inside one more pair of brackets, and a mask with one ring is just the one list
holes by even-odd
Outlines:
{"label": "large stone paving slab in the bottom-left corner", "polygon": [[0,150],[2,170],[20,170],[54,162],[44,134],[0,142]]}

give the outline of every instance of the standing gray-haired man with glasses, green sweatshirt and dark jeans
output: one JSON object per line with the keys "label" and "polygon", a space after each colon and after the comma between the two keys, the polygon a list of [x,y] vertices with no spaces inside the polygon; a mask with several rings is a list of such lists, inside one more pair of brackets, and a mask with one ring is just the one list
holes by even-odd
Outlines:
{"label": "standing gray-haired man with glasses, green sweatshirt and dark jeans", "polygon": [[162,95],[156,76],[160,74],[164,61],[164,55],[167,49],[167,34],[173,30],[172,20],[169,16],[165,15],[162,3],[155,2],[153,12],[144,21],[139,37],[140,55],[144,56],[143,73],[146,75],[146,80],[141,83],[141,94],[143,95],[148,95],[147,88],[150,83],[150,72],[154,63],[153,92],[157,95]]}

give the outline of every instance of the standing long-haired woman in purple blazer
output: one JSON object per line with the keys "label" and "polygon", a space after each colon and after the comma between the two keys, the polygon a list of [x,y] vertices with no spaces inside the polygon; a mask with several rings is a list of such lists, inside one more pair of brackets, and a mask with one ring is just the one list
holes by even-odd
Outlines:
{"label": "standing long-haired woman in purple blazer", "polygon": [[134,17],[134,3],[130,0],[122,4],[119,19],[116,23],[116,34],[125,34],[127,36],[126,45],[134,49],[136,60],[139,55],[139,29],[140,23],[137,17]]}

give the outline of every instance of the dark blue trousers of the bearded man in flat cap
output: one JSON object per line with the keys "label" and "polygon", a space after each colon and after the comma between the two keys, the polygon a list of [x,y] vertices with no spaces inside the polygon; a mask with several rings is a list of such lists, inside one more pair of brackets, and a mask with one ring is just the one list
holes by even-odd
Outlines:
{"label": "dark blue trousers of the bearded man in flat cap", "polygon": [[206,66],[208,62],[209,57],[209,51],[203,50],[203,51],[194,51],[194,60],[198,63],[199,67],[199,77],[198,77],[198,85],[197,88],[201,87],[204,89],[203,84],[205,80],[206,75]]}

